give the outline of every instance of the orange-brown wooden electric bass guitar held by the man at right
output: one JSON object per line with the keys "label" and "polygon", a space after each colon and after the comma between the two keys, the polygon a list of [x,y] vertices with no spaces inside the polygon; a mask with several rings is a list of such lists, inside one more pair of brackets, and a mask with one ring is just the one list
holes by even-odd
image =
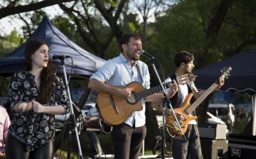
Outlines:
{"label": "orange-brown wooden electric bass guitar held by the man at right", "polygon": [[[227,66],[224,67],[224,69],[222,69],[222,78],[223,79],[227,79],[230,76],[230,71],[232,70],[231,66]],[[205,91],[205,93],[203,93],[199,98],[197,98],[196,101],[194,101],[193,104],[189,104],[191,98],[193,97],[193,93],[189,93],[185,100],[183,101],[183,104],[181,104],[178,108],[174,109],[174,112],[180,112],[181,115],[183,115],[184,120],[180,120],[179,123],[175,120],[175,117],[173,117],[172,115],[170,115],[170,113],[167,111],[167,128],[169,130],[170,133],[175,134],[177,136],[181,136],[182,133],[180,132],[180,129],[178,127],[178,124],[180,124],[180,127],[183,131],[183,133],[186,132],[189,122],[191,120],[195,120],[197,119],[196,116],[192,116],[191,113],[194,111],[194,109],[197,108],[197,106],[199,106],[202,101],[205,100],[205,98],[211,94],[218,86],[219,81],[217,80],[215,83],[213,83],[213,85],[211,85],[210,88],[208,88],[208,90]]]}

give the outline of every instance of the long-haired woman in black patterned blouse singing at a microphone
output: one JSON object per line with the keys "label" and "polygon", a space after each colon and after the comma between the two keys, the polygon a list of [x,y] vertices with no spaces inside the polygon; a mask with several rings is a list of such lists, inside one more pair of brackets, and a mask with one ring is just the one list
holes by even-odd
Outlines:
{"label": "long-haired woman in black patterned blouse singing at a microphone", "polygon": [[54,156],[54,115],[65,114],[70,102],[48,53],[46,42],[31,40],[25,48],[26,71],[15,73],[10,81],[8,94],[15,117],[7,136],[7,158]]}

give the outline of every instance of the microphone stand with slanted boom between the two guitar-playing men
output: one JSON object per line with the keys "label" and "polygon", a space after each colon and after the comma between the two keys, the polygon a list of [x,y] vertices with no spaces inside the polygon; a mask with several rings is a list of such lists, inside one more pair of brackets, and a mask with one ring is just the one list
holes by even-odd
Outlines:
{"label": "microphone stand with slanted boom between the two guitar-playing men", "polygon": [[[153,69],[154,69],[154,71],[155,71],[155,74],[156,74],[156,77],[158,78],[158,82],[160,83],[160,86],[161,86],[161,88],[162,88],[162,90],[164,91],[164,96],[165,96],[165,98],[166,98],[166,100],[165,101],[163,101],[163,111],[162,111],[162,116],[163,116],[163,123],[162,123],[162,145],[161,145],[161,158],[162,159],[164,159],[164,152],[165,152],[165,117],[166,117],[166,109],[167,109],[167,101],[169,102],[169,107],[170,107],[170,112],[172,113],[172,116],[173,117],[175,117],[175,120],[176,121],[178,121],[178,119],[177,119],[177,117],[176,117],[176,115],[175,115],[175,112],[174,112],[174,110],[173,110],[173,108],[172,108],[172,104],[171,104],[171,102],[169,101],[169,98],[167,97],[167,90],[164,88],[164,85],[163,85],[163,83],[161,82],[161,79],[160,79],[160,77],[159,77],[159,74],[158,74],[158,71],[156,70],[156,66],[155,66],[155,63],[154,63],[154,57],[151,57],[151,63],[152,63],[152,66],[153,66]],[[164,104],[165,103],[165,104]],[[184,136],[184,133],[183,133],[183,131],[182,131],[182,129],[181,129],[181,127],[180,127],[180,123],[179,122],[177,122],[178,124],[178,128],[180,129],[180,132],[182,133],[182,136],[183,136],[183,139],[185,140],[185,141],[187,141],[186,140],[186,136]]]}

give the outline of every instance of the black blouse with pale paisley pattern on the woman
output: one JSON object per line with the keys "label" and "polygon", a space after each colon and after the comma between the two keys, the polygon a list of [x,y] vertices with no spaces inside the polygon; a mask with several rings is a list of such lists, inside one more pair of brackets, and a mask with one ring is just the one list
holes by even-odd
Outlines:
{"label": "black blouse with pale paisley pattern on the woman", "polygon": [[[49,83],[49,85],[51,85]],[[54,93],[46,105],[62,105],[66,110],[70,108],[67,91],[63,81],[54,75]],[[34,82],[34,75],[29,72],[15,73],[8,88],[10,107],[22,102],[36,101],[39,90]],[[42,104],[43,105],[43,104]],[[33,109],[24,113],[16,113],[9,127],[9,132],[16,139],[26,145],[27,151],[41,147],[54,138],[54,115],[34,112]]]}

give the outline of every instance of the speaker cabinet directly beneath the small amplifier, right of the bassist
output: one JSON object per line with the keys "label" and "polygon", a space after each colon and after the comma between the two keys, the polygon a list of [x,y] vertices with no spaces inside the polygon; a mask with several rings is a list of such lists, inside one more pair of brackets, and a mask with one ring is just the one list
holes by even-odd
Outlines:
{"label": "speaker cabinet directly beneath the small amplifier, right of the bassist", "polygon": [[208,159],[227,159],[228,141],[200,139],[202,156]]}

